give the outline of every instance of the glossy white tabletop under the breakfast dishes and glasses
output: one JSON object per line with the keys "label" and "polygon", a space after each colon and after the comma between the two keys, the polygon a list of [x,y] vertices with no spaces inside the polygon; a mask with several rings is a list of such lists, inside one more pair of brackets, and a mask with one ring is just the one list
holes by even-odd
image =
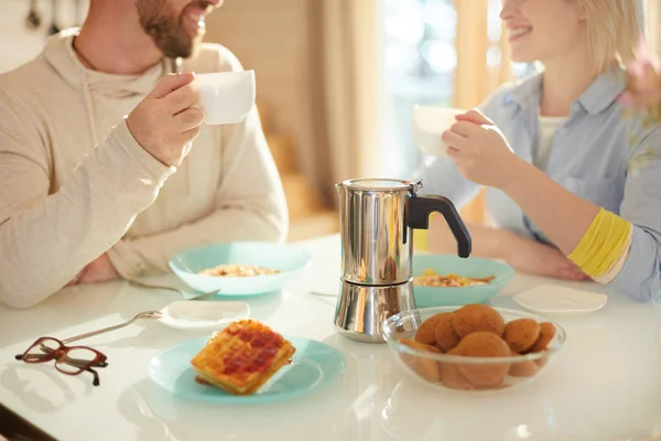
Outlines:
{"label": "glossy white tabletop under the breakfast dishes and glasses", "polygon": [[[100,387],[84,373],[14,361],[39,336],[67,337],[116,324],[177,294],[124,282],[74,287],[39,306],[0,306],[0,404],[54,438],[91,440],[649,440],[661,433],[661,310],[611,294],[595,313],[563,319],[565,347],[535,383],[498,395],[443,392],[411,379],[388,347],[335,334],[337,236],[299,244],[313,266],[281,294],[251,298],[252,316],[277,331],[325,342],[347,369],[314,395],[272,405],[182,401],[151,383],[149,359],[205,335],[159,323],[137,324],[82,344],[108,355]],[[172,276],[165,277],[175,283]],[[495,304],[549,280],[517,276]],[[571,283],[564,283],[572,286]],[[584,289],[600,289],[582,284]]]}

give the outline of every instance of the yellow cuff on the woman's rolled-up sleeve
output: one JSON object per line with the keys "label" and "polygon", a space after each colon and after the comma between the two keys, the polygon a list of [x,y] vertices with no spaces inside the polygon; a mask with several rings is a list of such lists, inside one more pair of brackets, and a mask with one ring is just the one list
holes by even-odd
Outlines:
{"label": "yellow cuff on the woman's rolled-up sleeve", "polygon": [[631,240],[631,224],[599,208],[581,241],[568,256],[586,275],[605,275],[625,254]]}

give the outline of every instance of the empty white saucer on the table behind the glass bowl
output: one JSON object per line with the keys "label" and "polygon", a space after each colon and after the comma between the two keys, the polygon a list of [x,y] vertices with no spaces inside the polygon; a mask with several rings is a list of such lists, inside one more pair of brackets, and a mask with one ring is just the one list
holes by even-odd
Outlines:
{"label": "empty white saucer on the table behind the glass bowl", "polygon": [[556,284],[542,284],[513,297],[521,306],[543,314],[586,314],[602,309],[608,297]]}

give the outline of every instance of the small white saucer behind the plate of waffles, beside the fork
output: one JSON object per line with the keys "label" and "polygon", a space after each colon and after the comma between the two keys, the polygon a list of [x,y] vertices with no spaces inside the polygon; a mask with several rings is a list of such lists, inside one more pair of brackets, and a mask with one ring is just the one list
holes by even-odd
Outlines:
{"label": "small white saucer behind the plate of waffles, beside the fork", "polygon": [[161,310],[159,322],[177,330],[223,327],[236,320],[248,319],[250,306],[246,302],[218,302],[177,300]]}

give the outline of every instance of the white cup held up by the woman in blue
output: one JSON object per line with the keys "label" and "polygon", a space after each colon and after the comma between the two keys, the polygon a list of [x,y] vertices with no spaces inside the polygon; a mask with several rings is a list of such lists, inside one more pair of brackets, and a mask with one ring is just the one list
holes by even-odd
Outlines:
{"label": "white cup held up by the woman in blue", "polygon": [[414,106],[413,140],[418,149],[425,154],[445,157],[447,146],[441,140],[441,135],[456,121],[455,116],[463,112],[447,107]]}

